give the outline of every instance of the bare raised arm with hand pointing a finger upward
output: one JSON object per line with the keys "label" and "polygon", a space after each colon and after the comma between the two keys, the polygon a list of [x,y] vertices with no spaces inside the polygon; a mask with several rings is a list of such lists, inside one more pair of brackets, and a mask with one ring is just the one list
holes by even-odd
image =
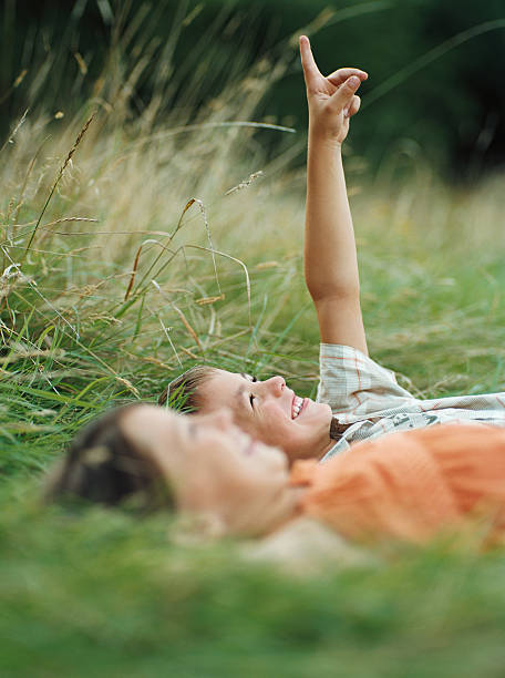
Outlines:
{"label": "bare raised arm with hand pointing a finger upward", "polygon": [[358,112],[355,91],[368,75],[339,69],[324,78],[308,38],[300,38],[309,105],[305,278],[312,297],[321,341],[368,353],[360,306],[354,230],[346,189],[341,144]]}

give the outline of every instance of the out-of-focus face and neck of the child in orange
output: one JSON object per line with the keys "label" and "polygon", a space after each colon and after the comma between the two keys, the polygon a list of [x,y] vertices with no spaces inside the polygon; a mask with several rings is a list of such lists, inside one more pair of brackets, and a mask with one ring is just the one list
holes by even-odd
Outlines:
{"label": "out-of-focus face and neck of the child in orange", "polygon": [[177,507],[212,515],[228,534],[266,534],[296,512],[286,455],[252,441],[229,411],[175,414],[137,405],[121,429],[171,484]]}

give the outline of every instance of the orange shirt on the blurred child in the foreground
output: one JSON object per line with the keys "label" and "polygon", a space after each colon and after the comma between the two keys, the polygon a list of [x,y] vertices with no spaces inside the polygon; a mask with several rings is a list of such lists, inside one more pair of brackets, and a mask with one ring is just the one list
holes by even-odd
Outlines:
{"label": "orange shirt on the blurred child in the foreground", "polygon": [[295,462],[302,513],[348,538],[422,543],[483,516],[505,534],[505,429],[441,424],[352,445],[322,464]]}

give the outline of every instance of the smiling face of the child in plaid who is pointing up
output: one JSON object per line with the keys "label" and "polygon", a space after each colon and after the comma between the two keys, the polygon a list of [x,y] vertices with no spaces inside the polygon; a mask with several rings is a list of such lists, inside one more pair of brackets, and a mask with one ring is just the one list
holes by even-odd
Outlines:
{"label": "smiling face of the child in plaid who is pointing up", "polygon": [[319,459],[334,444],[330,407],[299,398],[282,377],[257,381],[249,374],[215,370],[199,387],[198,396],[202,412],[228,408],[243,431],[281,448],[290,461]]}

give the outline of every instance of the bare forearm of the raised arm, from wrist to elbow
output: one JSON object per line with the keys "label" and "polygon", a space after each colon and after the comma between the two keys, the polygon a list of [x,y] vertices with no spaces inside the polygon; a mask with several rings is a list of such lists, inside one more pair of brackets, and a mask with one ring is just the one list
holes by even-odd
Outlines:
{"label": "bare forearm of the raised arm, from wrist to elbow", "polygon": [[341,145],[309,130],[305,276],[313,299],[359,295]]}

